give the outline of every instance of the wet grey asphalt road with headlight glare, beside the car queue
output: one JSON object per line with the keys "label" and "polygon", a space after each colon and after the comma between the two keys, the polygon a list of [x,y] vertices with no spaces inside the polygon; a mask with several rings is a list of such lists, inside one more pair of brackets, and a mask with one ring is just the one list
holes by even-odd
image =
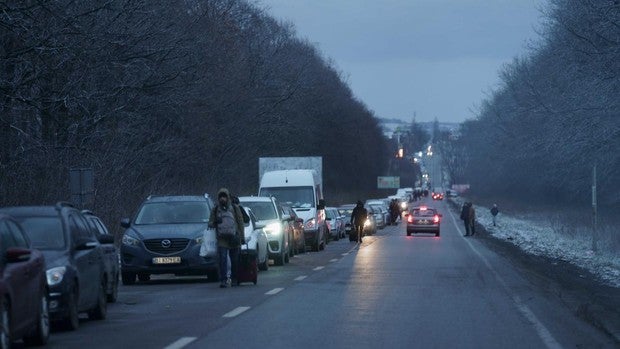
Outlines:
{"label": "wet grey asphalt road with headlight glare, beside the car queue", "polygon": [[476,238],[444,202],[442,235],[387,227],[220,289],[160,277],[121,287],[104,321],[51,348],[615,348]]}

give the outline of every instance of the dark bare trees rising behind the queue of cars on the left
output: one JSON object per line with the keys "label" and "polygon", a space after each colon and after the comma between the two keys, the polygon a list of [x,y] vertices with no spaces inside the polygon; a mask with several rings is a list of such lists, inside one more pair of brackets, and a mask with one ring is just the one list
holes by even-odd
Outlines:
{"label": "dark bare trees rising behind the queue of cars on the left", "polygon": [[325,193],[388,151],[341,73],[245,0],[0,2],[0,205],[69,199],[92,167],[108,224],[149,194],[255,194],[259,156],[323,156]]}

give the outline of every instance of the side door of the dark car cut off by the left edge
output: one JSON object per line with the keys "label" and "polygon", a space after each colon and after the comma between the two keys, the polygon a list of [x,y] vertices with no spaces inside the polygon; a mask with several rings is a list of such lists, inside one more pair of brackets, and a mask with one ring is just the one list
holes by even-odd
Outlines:
{"label": "side door of the dark car cut off by the left edge", "polygon": [[27,260],[19,262],[7,262],[6,253],[9,248],[28,249],[28,243],[23,235],[17,236],[9,229],[6,220],[0,221],[0,253],[4,264],[4,282],[11,289],[11,312],[13,330],[22,329],[29,325],[31,317],[34,317],[34,307],[39,304],[35,301],[39,293],[38,280],[33,282],[35,273],[34,258],[30,256]]}

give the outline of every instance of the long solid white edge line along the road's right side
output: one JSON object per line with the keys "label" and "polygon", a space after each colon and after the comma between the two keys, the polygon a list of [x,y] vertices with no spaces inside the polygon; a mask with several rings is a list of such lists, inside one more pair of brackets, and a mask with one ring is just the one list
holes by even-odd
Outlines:
{"label": "long solid white edge line along the road's right side", "polygon": [[551,334],[551,332],[549,332],[549,330],[545,327],[545,325],[543,325],[543,323],[536,317],[534,312],[532,312],[532,310],[525,303],[523,303],[523,301],[521,300],[519,296],[517,296],[514,292],[512,292],[512,290],[508,287],[508,284],[506,283],[506,281],[504,281],[501,275],[493,268],[493,266],[491,266],[491,263],[489,263],[489,261],[476,249],[476,247],[474,247],[474,245],[471,243],[471,241],[469,241],[469,239],[463,236],[463,232],[461,231],[461,228],[459,227],[458,224],[456,224],[456,219],[454,218],[454,214],[452,214],[451,210],[449,210],[448,212],[450,213],[450,217],[452,217],[452,222],[454,223],[454,227],[456,227],[456,230],[461,235],[461,238],[463,238],[463,240],[465,240],[467,245],[469,245],[469,248],[471,248],[471,250],[476,255],[478,255],[478,257],[480,257],[480,259],[482,260],[482,262],[484,262],[486,267],[491,272],[493,272],[493,275],[495,276],[495,279],[497,280],[497,282],[499,282],[499,284],[505,289],[506,293],[510,295],[510,298],[512,298],[512,301],[515,303],[517,310],[519,310],[521,315],[523,315],[529,321],[529,323],[532,324],[532,326],[538,333],[538,336],[543,341],[543,343],[545,343],[547,348],[549,349],[562,348],[560,343],[558,343],[558,341],[556,341],[555,338],[553,338],[553,335]]}

